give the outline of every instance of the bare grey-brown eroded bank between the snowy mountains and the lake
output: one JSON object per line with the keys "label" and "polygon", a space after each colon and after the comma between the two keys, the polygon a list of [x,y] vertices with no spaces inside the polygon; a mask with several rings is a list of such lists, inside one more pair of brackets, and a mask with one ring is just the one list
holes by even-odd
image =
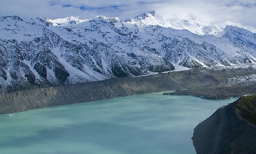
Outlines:
{"label": "bare grey-brown eroded bank between the snowy mountains and the lake", "polygon": [[188,71],[159,73],[154,76],[112,78],[105,81],[69,86],[33,88],[0,96],[0,114],[28,111],[35,108],[99,101],[139,93],[172,91],[181,88],[210,86],[234,76],[256,73],[255,68],[200,68]]}

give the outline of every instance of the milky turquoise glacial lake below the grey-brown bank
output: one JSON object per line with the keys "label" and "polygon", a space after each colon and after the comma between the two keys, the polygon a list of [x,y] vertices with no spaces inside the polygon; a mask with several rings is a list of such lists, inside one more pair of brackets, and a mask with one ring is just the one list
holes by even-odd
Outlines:
{"label": "milky turquoise glacial lake below the grey-brown bank", "polygon": [[195,153],[195,126],[237,98],[148,93],[0,116],[0,153]]}

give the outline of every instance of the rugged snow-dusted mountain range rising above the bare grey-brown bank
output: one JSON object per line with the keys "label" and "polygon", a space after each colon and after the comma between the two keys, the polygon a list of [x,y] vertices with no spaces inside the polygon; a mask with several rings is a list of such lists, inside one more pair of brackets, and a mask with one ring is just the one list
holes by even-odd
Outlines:
{"label": "rugged snow-dusted mountain range rising above the bare grey-brown bank", "polygon": [[192,15],[186,20],[187,24],[178,19],[163,22],[155,18],[154,11],[126,21],[105,16],[0,17],[0,88],[16,91],[142,76],[172,71],[174,66],[255,63],[252,31],[225,26],[222,36],[197,35],[198,27],[209,25]]}

